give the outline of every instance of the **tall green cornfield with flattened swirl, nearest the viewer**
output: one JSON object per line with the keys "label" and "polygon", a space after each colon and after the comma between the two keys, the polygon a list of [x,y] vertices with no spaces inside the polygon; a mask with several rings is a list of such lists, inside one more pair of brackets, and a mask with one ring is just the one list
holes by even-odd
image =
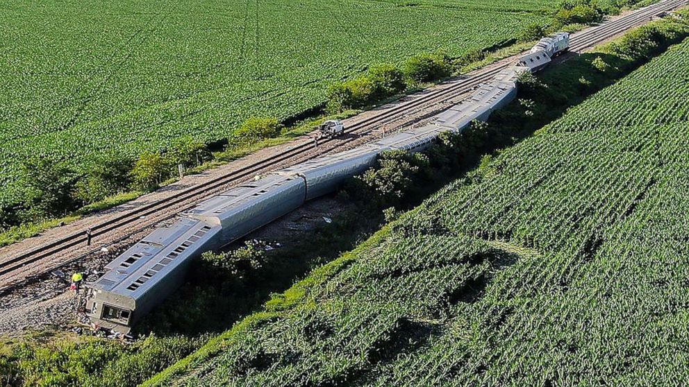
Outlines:
{"label": "tall green cornfield with flattened swirl, nearest the viewer", "polygon": [[688,71],[689,40],[269,302],[178,381],[682,384]]}

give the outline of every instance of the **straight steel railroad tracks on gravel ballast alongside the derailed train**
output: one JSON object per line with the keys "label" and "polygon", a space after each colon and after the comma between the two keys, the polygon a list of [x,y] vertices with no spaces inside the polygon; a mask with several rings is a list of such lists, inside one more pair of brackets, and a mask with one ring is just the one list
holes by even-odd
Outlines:
{"label": "straight steel railroad tracks on gravel ballast alongside the derailed train", "polygon": [[[632,26],[636,26],[642,22],[652,19],[653,17],[660,15],[662,12],[666,12],[687,4],[689,4],[689,0],[665,0],[637,10],[629,15],[620,17],[611,22],[606,22],[595,28],[590,28],[586,31],[582,31],[581,33],[576,33],[572,35],[572,39],[570,40],[570,51],[576,52],[588,49],[592,46],[595,46],[595,44],[598,44],[599,42],[626,31],[626,29]],[[506,69],[506,67],[509,67],[510,65],[511,63],[505,63],[504,65],[490,67],[490,69],[476,71],[467,78],[451,81],[450,83],[446,83],[445,86],[440,85],[440,87],[435,89],[433,92],[429,92],[417,98],[399,103],[399,105],[392,107],[391,109],[383,110],[377,114],[370,114],[364,119],[354,119],[352,120],[354,122],[347,125],[347,130],[345,130],[345,132],[348,136],[345,138],[325,139],[320,141],[318,145],[310,140],[301,141],[291,148],[286,149],[282,153],[272,155],[264,160],[244,166],[236,171],[220,175],[217,178],[213,178],[213,180],[209,180],[203,184],[198,184],[194,187],[180,191],[172,197],[157,200],[153,203],[133,209],[115,218],[110,218],[107,221],[93,225],[91,227],[92,236],[104,236],[115,230],[126,230],[128,227],[131,227],[132,224],[137,222],[141,223],[142,218],[146,218],[151,214],[163,212],[166,209],[169,210],[169,207],[181,205],[187,201],[192,203],[190,205],[185,205],[181,211],[176,211],[174,214],[166,216],[163,219],[157,218],[156,221],[143,225],[142,227],[138,227],[136,230],[128,230],[128,232],[125,232],[125,234],[128,236],[134,234],[135,232],[145,230],[147,227],[150,227],[155,223],[172,218],[176,216],[176,214],[179,214],[179,212],[183,212],[186,209],[194,207],[194,205],[196,205],[199,201],[211,196],[215,191],[222,189],[223,187],[228,187],[231,184],[237,184],[239,182],[249,180],[254,175],[258,173],[265,173],[280,163],[288,162],[289,160],[293,160],[294,163],[310,160],[314,157],[318,157],[319,155],[323,155],[324,153],[328,153],[335,148],[340,148],[346,144],[356,141],[365,135],[370,135],[372,132],[374,132],[374,130],[379,128],[384,123],[404,117],[409,112],[420,111],[427,107],[447,103],[447,101],[457,98],[458,95],[470,92],[472,89],[481,85],[481,83],[492,79],[500,71]],[[121,241],[122,239],[124,238],[117,239],[116,241],[110,241],[110,243],[115,243],[117,241]],[[63,252],[69,248],[75,248],[76,246],[85,243],[85,240],[85,234],[75,233],[44,246],[40,246],[39,248],[35,248],[28,252],[23,252],[15,257],[10,257],[4,261],[0,261],[0,280],[2,281],[0,284],[0,294],[5,293],[13,286],[21,284],[26,279],[30,279],[31,277],[36,277],[44,273],[49,273],[52,270],[60,268],[61,266],[71,264],[78,259],[88,257],[88,255],[90,255],[92,252],[97,251],[92,250],[72,259],[56,262],[51,264],[49,267],[42,268],[38,274],[34,273],[33,275],[19,275],[15,273],[22,270],[22,268],[26,268],[28,265],[35,264],[36,262],[40,262],[50,257],[56,257],[60,254],[60,252]]]}

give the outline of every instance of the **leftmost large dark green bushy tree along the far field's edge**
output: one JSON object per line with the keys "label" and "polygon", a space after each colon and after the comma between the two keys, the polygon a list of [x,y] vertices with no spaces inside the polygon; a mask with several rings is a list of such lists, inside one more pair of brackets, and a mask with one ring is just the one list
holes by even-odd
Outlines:
{"label": "leftmost large dark green bushy tree along the far field's edge", "polygon": [[32,157],[22,163],[22,175],[28,216],[62,216],[74,209],[78,175],[64,162]]}

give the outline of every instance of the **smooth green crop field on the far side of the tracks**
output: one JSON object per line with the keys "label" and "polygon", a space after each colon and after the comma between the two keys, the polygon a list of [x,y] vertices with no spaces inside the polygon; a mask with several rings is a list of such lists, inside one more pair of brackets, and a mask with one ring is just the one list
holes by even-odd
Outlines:
{"label": "smooth green crop field on the far side of the tracks", "polygon": [[554,0],[8,0],[0,9],[0,204],[30,155],[88,168],[177,137],[288,119],[326,87],[422,51],[458,56],[543,22]]}

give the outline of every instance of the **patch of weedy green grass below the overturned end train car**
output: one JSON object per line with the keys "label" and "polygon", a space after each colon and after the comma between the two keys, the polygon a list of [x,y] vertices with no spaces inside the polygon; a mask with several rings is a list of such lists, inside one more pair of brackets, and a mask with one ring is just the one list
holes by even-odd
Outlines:
{"label": "patch of weedy green grass below the overturned end train car", "polygon": [[23,333],[0,338],[0,381],[3,386],[135,386],[205,339],[148,336],[126,344],[64,332]]}

